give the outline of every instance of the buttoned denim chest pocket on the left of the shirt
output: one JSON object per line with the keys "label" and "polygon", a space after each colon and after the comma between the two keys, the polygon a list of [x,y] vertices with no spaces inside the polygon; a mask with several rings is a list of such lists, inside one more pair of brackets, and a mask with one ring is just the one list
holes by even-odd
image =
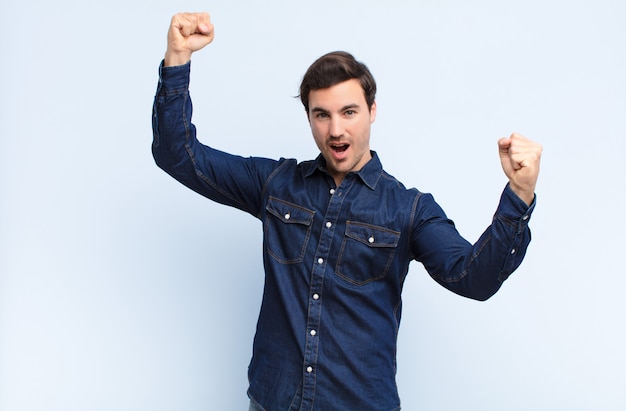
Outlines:
{"label": "buttoned denim chest pocket on the left of the shirt", "polygon": [[301,263],[311,237],[315,211],[275,197],[268,199],[265,210],[267,253],[281,264]]}

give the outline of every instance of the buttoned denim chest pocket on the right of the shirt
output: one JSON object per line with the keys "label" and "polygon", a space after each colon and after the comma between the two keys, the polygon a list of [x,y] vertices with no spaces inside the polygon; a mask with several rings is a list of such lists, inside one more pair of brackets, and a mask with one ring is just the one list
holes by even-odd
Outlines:
{"label": "buttoned denim chest pocket on the right of the shirt", "polygon": [[371,224],[348,221],[337,259],[336,273],[364,285],[384,278],[398,247],[400,233]]}

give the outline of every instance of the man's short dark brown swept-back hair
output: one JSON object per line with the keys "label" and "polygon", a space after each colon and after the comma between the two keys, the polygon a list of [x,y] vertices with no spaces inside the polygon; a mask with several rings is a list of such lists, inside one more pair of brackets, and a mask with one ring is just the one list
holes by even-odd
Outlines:
{"label": "man's short dark brown swept-back hair", "polygon": [[357,79],[363,87],[367,108],[371,110],[376,98],[376,81],[367,66],[345,51],[324,54],[311,64],[300,84],[300,100],[309,112],[309,93],[332,87],[344,81]]}

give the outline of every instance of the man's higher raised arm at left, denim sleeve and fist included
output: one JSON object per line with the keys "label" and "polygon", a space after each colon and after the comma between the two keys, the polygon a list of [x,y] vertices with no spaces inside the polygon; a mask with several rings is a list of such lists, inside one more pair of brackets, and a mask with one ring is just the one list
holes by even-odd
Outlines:
{"label": "man's higher raised arm at left, denim sleeve and fist included", "polygon": [[258,216],[263,186],[279,163],[204,145],[191,121],[191,55],[211,41],[213,25],[207,13],[172,17],[154,99],[152,154],[156,164],[180,183],[211,200]]}

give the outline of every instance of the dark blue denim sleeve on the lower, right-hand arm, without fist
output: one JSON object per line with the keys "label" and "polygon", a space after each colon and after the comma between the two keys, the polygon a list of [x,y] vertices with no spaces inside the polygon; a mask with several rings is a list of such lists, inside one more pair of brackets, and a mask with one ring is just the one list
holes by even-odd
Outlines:
{"label": "dark blue denim sleeve on the lower, right-hand arm, without fist", "polygon": [[413,252],[430,276],[462,296],[484,301],[519,267],[531,240],[528,206],[507,185],[491,225],[475,244],[465,240],[431,195],[418,200]]}

